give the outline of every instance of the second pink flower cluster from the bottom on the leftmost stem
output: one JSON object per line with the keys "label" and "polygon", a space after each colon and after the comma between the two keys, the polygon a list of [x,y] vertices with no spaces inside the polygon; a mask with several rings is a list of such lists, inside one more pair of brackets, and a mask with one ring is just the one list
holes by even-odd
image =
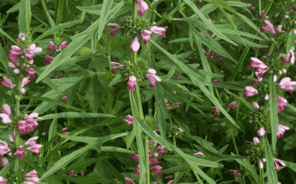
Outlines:
{"label": "second pink flower cluster from the bottom on the leftmost stem", "polygon": [[[42,147],[42,144],[36,144],[36,140],[38,139],[38,136],[35,137],[31,137],[29,138],[23,145],[20,145],[16,148],[16,152],[13,153],[13,155],[17,155],[17,158],[23,158],[23,154],[25,153],[25,150],[27,151],[31,151],[36,153],[37,157],[40,155],[40,148]],[[14,139],[11,135],[8,135],[8,140],[10,142],[14,142]],[[11,147],[5,142],[0,140],[1,144],[0,144],[0,158],[2,157],[2,155],[4,154],[8,154],[8,156],[12,156],[12,152],[11,152]],[[23,148],[25,148],[25,150],[23,150]]]}

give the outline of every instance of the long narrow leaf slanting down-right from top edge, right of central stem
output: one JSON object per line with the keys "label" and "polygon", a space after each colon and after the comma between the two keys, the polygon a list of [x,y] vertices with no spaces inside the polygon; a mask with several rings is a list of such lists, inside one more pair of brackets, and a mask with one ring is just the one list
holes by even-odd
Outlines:
{"label": "long narrow leaf slanting down-right from top edge, right of central stem", "polygon": [[191,9],[202,19],[202,21],[206,24],[206,26],[214,32],[217,36],[221,37],[222,39],[232,43],[235,46],[238,46],[236,43],[228,39],[224,34],[222,34],[211,22],[207,20],[205,15],[196,7],[196,5],[190,0],[183,0]]}

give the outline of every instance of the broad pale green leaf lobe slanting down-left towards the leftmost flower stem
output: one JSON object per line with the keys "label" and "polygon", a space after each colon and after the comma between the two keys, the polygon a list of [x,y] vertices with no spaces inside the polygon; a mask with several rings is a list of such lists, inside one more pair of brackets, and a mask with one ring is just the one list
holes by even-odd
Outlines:
{"label": "broad pale green leaf lobe slanting down-left towards the leftmost flower stem", "polygon": [[36,83],[40,80],[44,79],[50,72],[54,71],[56,67],[63,64],[65,60],[71,56],[78,48],[80,48],[85,42],[87,42],[90,39],[89,35],[83,35],[76,39],[74,39],[68,47],[66,47],[61,53],[59,53],[50,63],[50,66],[48,65],[46,69],[40,74],[38,79],[36,80]]}

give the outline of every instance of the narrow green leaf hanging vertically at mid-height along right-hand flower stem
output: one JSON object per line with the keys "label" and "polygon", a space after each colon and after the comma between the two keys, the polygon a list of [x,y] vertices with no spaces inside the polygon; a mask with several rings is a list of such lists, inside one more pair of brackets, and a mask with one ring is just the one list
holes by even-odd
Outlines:
{"label": "narrow green leaf hanging vertically at mid-height along right-hand flower stem", "polygon": [[273,75],[270,76],[269,80],[269,117],[271,120],[271,128],[272,128],[272,147],[273,151],[276,148],[276,134],[277,134],[277,127],[278,127],[278,116],[277,116],[277,102],[276,102],[276,93],[275,93],[275,86],[273,81]]}

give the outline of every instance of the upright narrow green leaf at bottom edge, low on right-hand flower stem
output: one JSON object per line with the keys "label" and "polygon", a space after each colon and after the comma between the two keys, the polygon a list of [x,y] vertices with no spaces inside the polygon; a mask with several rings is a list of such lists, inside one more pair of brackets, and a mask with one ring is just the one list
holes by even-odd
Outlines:
{"label": "upright narrow green leaf at bottom edge, low on right-hand flower stem", "polygon": [[277,175],[274,167],[273,154],[272,154],[272,150],[270,149],[267,136],[264,136],[264,140],[265,140],[266,172],[267,172],[268,184],[277,184]]}

